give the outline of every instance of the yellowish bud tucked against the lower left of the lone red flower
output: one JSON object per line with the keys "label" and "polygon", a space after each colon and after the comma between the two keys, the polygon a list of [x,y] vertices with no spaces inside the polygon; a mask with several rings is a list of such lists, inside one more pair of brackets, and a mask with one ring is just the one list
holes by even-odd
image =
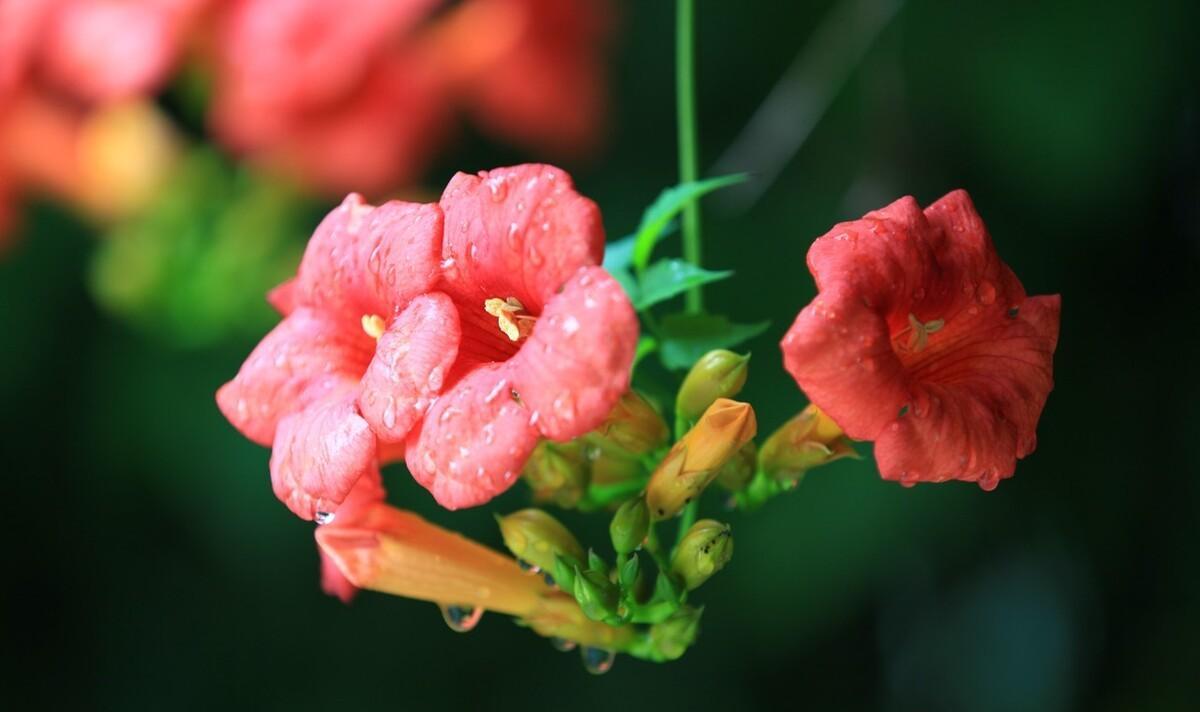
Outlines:
{"label": "yellowish bud tucked against the lower left of the lone red flower", "polygon": [[818,465],[857,456],[841,427],[810,405],[767,438],[758,465],[772,479],[794,483]]}

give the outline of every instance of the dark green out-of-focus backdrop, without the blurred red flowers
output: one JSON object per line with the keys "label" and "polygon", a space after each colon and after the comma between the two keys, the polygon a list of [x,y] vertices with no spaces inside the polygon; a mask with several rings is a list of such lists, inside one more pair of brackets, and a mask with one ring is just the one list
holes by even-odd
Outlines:
{"label": "dark green out-of-focus backdrop, without the blurred red flowers", "polygon": [[[704,164],[829,2],[698,2]],[[613,237],[674,181],[672,4],[624,5],[610,150],[571,167]],[[682,660],[575,654],[500,616],[320,594],[311,525],[212,394],[252,340],[174,349],[88,295],[92,238],[35,209],[0,262],[8,562],[4,695],[92,708],[1182,710],[1200,684],[1196,4],[907,2],[746,211],[706,209],[708,292],[755,340],[763,430],[803,406],[776,341],[809,243],[905,193],[967,187],[1030,293],[1063,295],[1038,450],[990,493],[870,460],[754,515]],[[468,140],[431,174],[521,160]],[[748,167],[752,168],[752,166]],[[494,546],[491,511],[392,499]],[[708,503],[715,511],[716,498]],[[571,520],[576,521],[576,520]],[[582,531],[601,544],[600,522]],[[569,706],[569,707],[568,707]]]}

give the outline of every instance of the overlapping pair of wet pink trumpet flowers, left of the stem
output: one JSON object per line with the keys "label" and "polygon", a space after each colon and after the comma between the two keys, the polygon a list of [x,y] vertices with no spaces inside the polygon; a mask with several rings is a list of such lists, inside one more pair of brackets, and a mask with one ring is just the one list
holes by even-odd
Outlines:
{"label": "overlapping pair of wet pink trumpet flowers, left of the stem", "polygon": [[602,251],[595,204],[550,166],[458,174],[439,204],[352,195],[217,402],[272,447],[275,492],[301,517],[338,511],[406,443],[440,504],[480,504],[539,437],[596,427],[628,389],[637,321]]}

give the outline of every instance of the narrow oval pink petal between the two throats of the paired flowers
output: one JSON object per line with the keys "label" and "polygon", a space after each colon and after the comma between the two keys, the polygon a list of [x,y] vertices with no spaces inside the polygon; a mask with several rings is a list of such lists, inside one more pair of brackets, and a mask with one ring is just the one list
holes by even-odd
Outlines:
{"label": "narrow oval pink petal between the two throats of the paired flowers", "polygon": [[458,313],[440,293],[418,297],[379,337],[362,377],[359,409],[380,441],[402,442],[442,393],[461,339]]}

